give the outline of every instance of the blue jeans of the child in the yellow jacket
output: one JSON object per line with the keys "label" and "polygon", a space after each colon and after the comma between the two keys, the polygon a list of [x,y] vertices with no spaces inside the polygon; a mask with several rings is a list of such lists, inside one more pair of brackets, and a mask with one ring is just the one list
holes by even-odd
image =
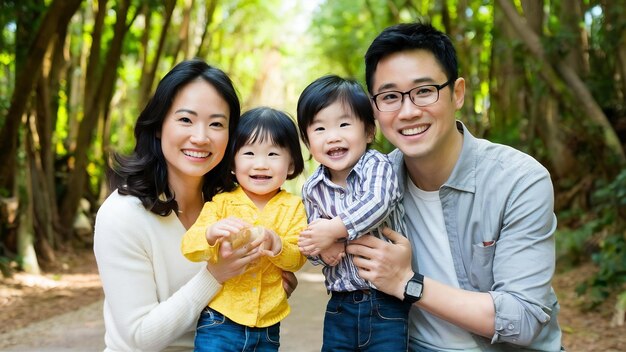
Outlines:
{"label": "blue jeans of the child in the yellow jacket", "polygon": [[198,319],[194,351],[275,352],[280,346],[279,338],[280,323],[266,328],[251,328],[206,307]]}

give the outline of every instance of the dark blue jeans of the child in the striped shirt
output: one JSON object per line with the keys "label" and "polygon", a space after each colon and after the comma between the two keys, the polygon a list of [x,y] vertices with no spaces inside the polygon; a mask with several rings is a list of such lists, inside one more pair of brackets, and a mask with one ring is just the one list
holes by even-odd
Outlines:
{"label": "dark blue jeans of the child in the striped shirt", "polygon": [[377,290],[332,292],[322,351],[407,351],[410,308]]}

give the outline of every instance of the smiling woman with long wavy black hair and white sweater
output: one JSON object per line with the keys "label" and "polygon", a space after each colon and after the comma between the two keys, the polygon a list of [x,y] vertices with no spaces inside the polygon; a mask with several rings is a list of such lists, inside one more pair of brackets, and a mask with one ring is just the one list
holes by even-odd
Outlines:
{"label": "smiling woman with long wavy black hair and white sweater", "polygon": [[179,250],[203,199],[233,186],[222,159],[239,113],[224,72],[181,62],[140,114],[133,154],[116,155],[117,189],[98,211],[94,237],[106,350],[191,349],[206,302],[258,256],[225,248],[218,264],[192,263]]}

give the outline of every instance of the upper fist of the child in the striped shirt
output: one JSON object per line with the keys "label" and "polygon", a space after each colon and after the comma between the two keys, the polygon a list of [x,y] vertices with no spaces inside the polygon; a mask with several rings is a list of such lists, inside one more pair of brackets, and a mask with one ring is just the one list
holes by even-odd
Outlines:
{"label": "upper fist of the child in the striped shirt", "polygon": [[330,248],[338,239],[347,236],[346,227],[340,218],[315,219],[298,238],[300,252],[306,256],[315,256]]}

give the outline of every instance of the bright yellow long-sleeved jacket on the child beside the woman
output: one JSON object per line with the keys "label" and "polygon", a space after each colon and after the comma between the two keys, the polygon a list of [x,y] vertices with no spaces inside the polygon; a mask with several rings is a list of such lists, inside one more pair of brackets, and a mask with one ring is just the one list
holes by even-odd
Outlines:
{"label": "bright yellow long-sleeved jacket on the child beside the woman", "polygon": [[217,258],[219,245],[209,246],[206,229],[229,216],[273,230],[283,248],[277,256],[262,256],[243,274],[226,281],[209,307],[245,326],[273,325],[290,311],[282,271],[297,271],[306,262],[298,249],[298,236],[307,226],[302,199],[282,190],[259,211],[241,187],[220,193],[205,203],[198,220],[185,233],[181,245],[185,257],[197,262]]}

